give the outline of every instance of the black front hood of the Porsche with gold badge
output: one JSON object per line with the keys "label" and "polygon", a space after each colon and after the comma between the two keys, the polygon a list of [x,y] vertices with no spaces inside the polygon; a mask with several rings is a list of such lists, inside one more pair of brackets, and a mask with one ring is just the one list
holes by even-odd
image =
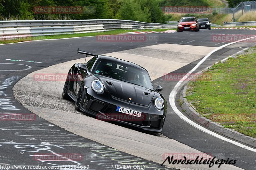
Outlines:
{"label": "black front hood of the Porsche with gold badge", "polygon": [[[149,105],[155,91],[128,82],[97,75],[111,96],[128,102]],[[132,100],[130,100],[131,98]]]}

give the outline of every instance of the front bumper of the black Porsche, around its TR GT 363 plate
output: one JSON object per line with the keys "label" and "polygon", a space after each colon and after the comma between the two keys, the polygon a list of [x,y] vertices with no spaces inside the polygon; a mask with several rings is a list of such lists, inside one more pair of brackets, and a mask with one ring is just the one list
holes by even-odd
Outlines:
{"label": "front bumper of the black Porsche, around its TR GT 363 plate", "polygon": [[[95,115],[99,120],[116,121],[147,131],[161,132],[166,117],[167,107],[158,111],[154,104],[154,108],[152,108],[151,105],[151,103],[149,106],[134,104],[113,98],[108,92],[97,94],[91,88],[86,88],[84,91],[84,105],[81,107],[81,110],[85,113]],[[117,106],[142,112],[141,116],[137,117],[117,112]],[[152,111],[152,109],[154,110]]]}

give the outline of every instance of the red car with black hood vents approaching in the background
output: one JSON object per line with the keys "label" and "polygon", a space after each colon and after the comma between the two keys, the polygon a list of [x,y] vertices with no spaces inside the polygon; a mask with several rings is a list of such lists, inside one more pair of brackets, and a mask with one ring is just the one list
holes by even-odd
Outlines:
{"label": "red car with black hood vents approaching in the background", "polygon": [[178,22],[177,32],[200,31],[196,17],[182,17]]}

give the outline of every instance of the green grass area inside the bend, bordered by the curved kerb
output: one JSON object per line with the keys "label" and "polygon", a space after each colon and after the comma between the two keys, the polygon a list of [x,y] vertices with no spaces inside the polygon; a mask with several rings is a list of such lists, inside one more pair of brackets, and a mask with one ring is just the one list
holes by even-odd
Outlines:
{"label": "green grass area inside the bend, bordered by the curved kerb", "polygon": [[187,99],[200,115],[256,137],[256,47],[249,50],[213,65],[204,72],[211,78],[189,82]]}

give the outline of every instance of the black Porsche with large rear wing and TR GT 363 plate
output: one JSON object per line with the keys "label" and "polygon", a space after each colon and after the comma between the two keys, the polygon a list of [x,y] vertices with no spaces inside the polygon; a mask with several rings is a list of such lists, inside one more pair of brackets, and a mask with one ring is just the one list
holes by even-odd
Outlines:
{"label": "black Porsche with large rear wing and TR GT 363 plate", "polygon": [[75,63],[68,71],[62,97],[75,101],[75,109],[100,120],[118,121],[152,132],[161,132],[167,102],[153,89],[148,71],[135,63],[95,55],[78,48],[78,54],[93,56]]}

